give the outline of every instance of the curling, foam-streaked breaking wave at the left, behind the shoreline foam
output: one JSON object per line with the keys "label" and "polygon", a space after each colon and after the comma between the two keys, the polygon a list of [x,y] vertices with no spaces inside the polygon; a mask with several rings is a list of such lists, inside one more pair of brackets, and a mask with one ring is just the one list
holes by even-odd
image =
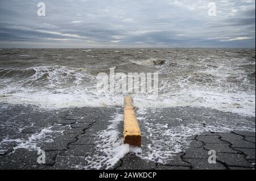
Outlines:
{"label": "curling, foam-streaked breaking wave at the left, behind the shoreline foam", "polygon": [[0,82],[24,87],[77,86],[92,79],[85,68],[67,66],[37,66],[27,69],[0,69]]}

